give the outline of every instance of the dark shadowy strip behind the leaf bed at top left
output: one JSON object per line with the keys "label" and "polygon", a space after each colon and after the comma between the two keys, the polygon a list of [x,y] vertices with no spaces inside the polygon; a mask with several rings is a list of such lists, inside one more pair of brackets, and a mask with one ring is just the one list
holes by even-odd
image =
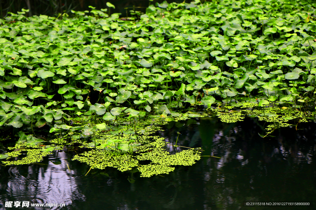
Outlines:
{"label": "dark shadowy strip behind the leaf bed at top left", "polygon": [[[133,10],[133,7],[143,7],[135,8],[136,11],[141,11],[145,13],[145,8],[149,4],[162,3],[163,0],[0,0],[0,18],[5,18],[8,12],[17,13],[21,12],[21,9],[30,9],[26,16],[33,15],[48,15],[48,16],[58,16],[58,13],[67,13],[71,15],[71,10],[75,11],[90,11],[91,8],[88,6],[93,6],[95,9],[109,9],[106,6],[106,2],[112,3],[115,9],[111,8],[110,14],[122,13],[121,17],[126,17],[126,9],[129,11]],[[167,0],[168,3],[181,3],[183,0]],[[191,2],[191,0],[186,0],[186,3]]]}

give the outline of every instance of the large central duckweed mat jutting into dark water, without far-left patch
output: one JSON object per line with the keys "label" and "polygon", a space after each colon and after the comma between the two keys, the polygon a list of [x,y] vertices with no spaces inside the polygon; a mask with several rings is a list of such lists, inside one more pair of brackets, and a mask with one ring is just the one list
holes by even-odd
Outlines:
{"label": "large central duckweed mat jutting into dark water, without far-left patch", "polygon": [[[160,116],[153,117],[154,121],[153,118],[150,118],[142,122],[137,122],[136,133],[141,145],[135,146],[137,150],[133,152],[134,155],[131,155],[129,151],[114,150],[116,147],[118,147],[116,141],[127,142],[127,140],[130,140],[131,137],[134,136],[130,134],[121,134],[119,139],[117,135],[119,132],[129,130],[133,127],[133,125],[126,125],[124,128],[119,129],[116,134],[100,134],[101,138],[95,139],[95,145],[100,144],[96,146],[96,151],[91,150],[84,152],[80,155],[74,156],[72,160],[85,162],[89,166],[99,169],[104,169],[107,166],[115,167],[120,171],[131,170],[133,167],[137,166],[141,172],[142,177],[149,177],[161,173],[169,173],[174,170],[174,167],[169,167],[172,165],[192,165],[196,160],[200,159],[200,152],[198,150],[183,150],[171,155],[164,149],[167,144],[165,138],[153,135],[156,131],[163,129],[157,125],[150,126],[149,124],[153,122],[160,122],[161,120],[164,120],[161,122],[161,124],[167,124],[168,121],[184,119],[189,115],[191,117],[207,116],[206,114],[197,115],[190,113],[176,116],[176,119],[169,118],[167,121],[165,121],[166,118]],[[112,143],[108,144],[109,141]],[[83,143],[81,147],[88,147],[88,145],[94,147],[94,143]],[[104,148],[108,150],[104,150]],[[138,160],[149,160],[151,163],[148,165],[139,166]]]}

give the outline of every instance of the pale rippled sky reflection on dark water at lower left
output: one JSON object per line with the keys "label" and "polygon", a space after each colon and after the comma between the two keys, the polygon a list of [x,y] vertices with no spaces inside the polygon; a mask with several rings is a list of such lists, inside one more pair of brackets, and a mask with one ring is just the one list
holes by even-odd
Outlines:
{"label": "pale rippled sky reflection on dark water at lower left", "polygon": [[[58,155],[58,156],[57,156]],[[65,203],[85,201],[78,184],[80,177],[67,167],[67,155],[59,152],[47,157],[47,163],[6,167],[7,179],[2,177],[0,201],[30,201],[30,203]],[[47,164],[44,166],[44,164]],[[3,170],[5,170],[3,169]],[[27,170],[27,171],[24,171]],[[47,209],[47,207],[34,207]],[[52,207],[50,209],[60,209]]]}

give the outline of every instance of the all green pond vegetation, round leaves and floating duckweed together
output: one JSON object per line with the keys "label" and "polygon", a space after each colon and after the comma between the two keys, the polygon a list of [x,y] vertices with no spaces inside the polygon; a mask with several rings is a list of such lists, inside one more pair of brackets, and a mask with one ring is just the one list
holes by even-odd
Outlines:
{"label": "all green pond vegetation, round leaves and floating duckweed together", "polygon": [[[0,20],[0,127],[26,137],[0,158],[39,161],[76,143],[93,148],[75,156],[91,167],[149,176],[172,171],[169,159],[197,159],[196,149],[155,149],[166,143],[149,133],[168,120],[255,116],[271,123],[263,137],[290,118],[304,122],[316,114],[315,10],[313,1],[195,0],[150,5],[128,20],[93,8],[9,13]],[[40,146],[42,133],[50,139]],[[25,159],[10,159],[21,151]]]}

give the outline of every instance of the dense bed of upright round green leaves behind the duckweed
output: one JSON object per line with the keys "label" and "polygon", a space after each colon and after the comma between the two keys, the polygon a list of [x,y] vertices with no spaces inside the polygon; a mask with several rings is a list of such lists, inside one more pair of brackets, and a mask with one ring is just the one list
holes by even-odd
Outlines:
{"label": "dense bed of upright round green leaves behind the duckweed", "polygon": [[0,20],[0,126],[244,95],[306,101],[316,77],[312,2],[164,2],[127,20],[95,9],[11,13]]}

